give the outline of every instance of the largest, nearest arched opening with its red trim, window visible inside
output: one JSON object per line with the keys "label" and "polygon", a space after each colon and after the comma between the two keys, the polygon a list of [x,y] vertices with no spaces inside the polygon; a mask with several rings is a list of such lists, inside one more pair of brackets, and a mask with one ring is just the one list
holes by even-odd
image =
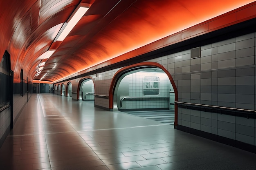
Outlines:
{"label": "largest, nearest arched opening with its red trim, window visible inside", "polygon": [[155,62],[121,68],[110,85],[113,110],[174,110],[177,124],[177,88],[171,74]]}

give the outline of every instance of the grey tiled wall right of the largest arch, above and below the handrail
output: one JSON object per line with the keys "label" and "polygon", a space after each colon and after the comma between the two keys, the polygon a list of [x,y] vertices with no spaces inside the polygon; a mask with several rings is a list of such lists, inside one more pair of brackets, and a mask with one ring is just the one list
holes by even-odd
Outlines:
{"label": "grey tiled wall right of the largest arch, above and below the handrail", "polygon": [[[190,51],[168,55],[178,101],[255,110],[255,44],[250,33],[201,46],[199,58],[190,59]],[[178,108],[178,124],[256,145],[255,119]]]}

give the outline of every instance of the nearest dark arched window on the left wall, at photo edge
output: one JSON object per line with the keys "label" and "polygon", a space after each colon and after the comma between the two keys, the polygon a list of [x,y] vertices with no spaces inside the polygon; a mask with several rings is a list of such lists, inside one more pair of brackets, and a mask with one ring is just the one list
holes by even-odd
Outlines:
{"label": "nearest dark arched window on the left wall, at photo edge", "polygon": [[10,55],[5,51],[0,62],[0,107],[10,103]]}

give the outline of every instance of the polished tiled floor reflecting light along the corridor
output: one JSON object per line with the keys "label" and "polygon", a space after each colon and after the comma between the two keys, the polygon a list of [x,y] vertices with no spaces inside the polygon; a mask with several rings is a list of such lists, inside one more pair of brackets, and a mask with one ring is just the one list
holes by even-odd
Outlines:
{"label": "polished tiled floor reflecting light along the corridor", "polygon": [[256,154],[122,112],[32,95],[0,170],[256,170]]}

